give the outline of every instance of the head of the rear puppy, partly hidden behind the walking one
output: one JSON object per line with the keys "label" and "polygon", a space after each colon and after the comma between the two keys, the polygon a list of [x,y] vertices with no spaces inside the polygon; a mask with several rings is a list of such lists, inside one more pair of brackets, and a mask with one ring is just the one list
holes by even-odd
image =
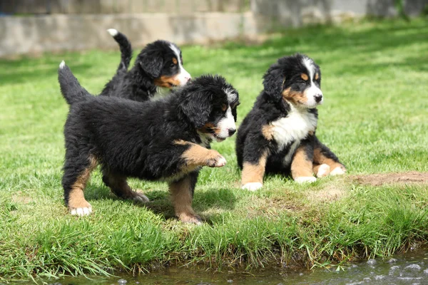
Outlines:
{"label": "head of the rear puppy, partly hidden behind the walking one", "polygon": [[183,67],[180,48],[169,41],[149,43],[138,54],[136,64],[153,78],[156,86],[173,88],[190,80],[190,74]]}

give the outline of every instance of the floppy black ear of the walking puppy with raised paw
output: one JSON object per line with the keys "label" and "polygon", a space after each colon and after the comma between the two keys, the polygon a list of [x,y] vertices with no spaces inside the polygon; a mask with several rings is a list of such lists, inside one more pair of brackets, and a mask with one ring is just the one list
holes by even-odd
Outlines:
{"label": "floppy black ear of the walking puppy with raised paw", "polygon": [[180,108],[195,128],[202,128],[207,123],[213,109],[213,95],[204,90],[189,90],[182,96]]}

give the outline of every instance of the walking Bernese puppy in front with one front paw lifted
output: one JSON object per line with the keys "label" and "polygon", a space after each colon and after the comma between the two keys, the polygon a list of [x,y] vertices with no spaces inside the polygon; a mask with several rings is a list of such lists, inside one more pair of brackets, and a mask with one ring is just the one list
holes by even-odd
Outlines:
{"label": "walking Bernese puppy in front with one front paw lifted", "polygon": [[92,212],[83,189],[99,164],[103,182],[123,199],[148,201],[131,190],[127,177],[168,182],[177,217],[199,224],[192,209],[198,172],[226,163],[210,142],[235,133],[237,90],[223,77],[200,76],[166,98],[144,103],[92,96],[64,62],[58,81],[70,105],[62,180],[70,213]]}

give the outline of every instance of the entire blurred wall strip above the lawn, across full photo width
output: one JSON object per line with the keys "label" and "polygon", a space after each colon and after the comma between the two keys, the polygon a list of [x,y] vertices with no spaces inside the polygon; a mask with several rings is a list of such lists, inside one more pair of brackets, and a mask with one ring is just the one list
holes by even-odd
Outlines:
{"label": "entire blurred wall strip above the lawn, across full photo width", "polygon": [[0,0],[0,57],[116,48],[107,28],[143,46],[254,38],[278,28],[362,17],[407,19],[427,0]]}

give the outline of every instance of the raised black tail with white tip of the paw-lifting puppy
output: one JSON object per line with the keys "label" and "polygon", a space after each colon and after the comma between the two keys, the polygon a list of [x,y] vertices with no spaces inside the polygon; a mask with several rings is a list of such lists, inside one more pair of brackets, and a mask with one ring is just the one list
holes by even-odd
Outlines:
{"label": "raised black tail with white tip of the paw-lifting puppy", "polygon": [[63,98],[66,99],[68,105],[82,102],[92,96],[78,83],[77,78],[64,61],[61,61],[58,68],[58,82]]}

